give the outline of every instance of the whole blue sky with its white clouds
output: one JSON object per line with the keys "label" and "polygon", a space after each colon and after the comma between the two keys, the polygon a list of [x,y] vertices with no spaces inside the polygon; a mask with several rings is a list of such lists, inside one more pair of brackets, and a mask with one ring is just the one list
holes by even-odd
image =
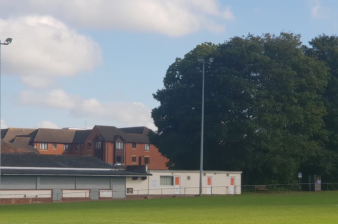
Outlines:
{"label": "whole blue sky with its white clouds", "polygon": [[147,126],[176,57],[249,33],[338,32],[336,0],[0,0],[1,128]]}

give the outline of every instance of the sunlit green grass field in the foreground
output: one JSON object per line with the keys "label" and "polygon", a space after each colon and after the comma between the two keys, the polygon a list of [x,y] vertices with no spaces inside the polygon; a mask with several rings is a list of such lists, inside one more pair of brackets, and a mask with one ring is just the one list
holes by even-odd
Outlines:
{"label": "sunlit green grass field in the foreground", "polygon": [[338,192],[0,205],[5,223],[338,223]]}

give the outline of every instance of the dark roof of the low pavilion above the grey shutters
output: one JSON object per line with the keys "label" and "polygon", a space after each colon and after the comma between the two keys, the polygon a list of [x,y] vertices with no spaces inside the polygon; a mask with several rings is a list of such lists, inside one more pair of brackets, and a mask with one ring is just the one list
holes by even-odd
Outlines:
{"label": "dark roof of the low pavilion above the grey shutters", "polygon": [[1,165],[2,175],[151,175],[140,166],[116,169],[101,160],[86,156],[2,154]]}

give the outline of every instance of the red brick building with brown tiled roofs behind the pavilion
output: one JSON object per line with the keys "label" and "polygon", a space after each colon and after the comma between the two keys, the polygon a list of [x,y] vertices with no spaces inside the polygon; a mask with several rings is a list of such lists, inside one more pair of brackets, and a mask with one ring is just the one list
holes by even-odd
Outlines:
{"label": "red brick building with brown tiled roofs behind the pavilion", "polygon": [[[166,170],[168,159],[150,144],[147,127],[117,128],[95,125],[90,129],[7,128],[4,141],[22,148],[35,148],[42,155],[82,155],[111,165],[148,165]],[[6,148],[2,148],[2,152]]]}

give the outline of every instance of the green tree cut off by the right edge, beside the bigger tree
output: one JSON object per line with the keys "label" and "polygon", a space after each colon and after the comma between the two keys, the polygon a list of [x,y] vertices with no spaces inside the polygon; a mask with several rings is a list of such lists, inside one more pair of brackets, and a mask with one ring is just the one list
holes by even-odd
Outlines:
{"label": "green tree cut off by the right edge, beside the bigger tree", "polygon": [[327,108],[323,120],[325,130],[328,131],[325,156],[313,158],[312,164],[317,166],[311,165],[312,169],[317,169],[315,171],[324,174],[325,179],[338,181],[338,37],[322,34],[309,43],[312,47],[307,48],[306,53],[325,62],[330,68],[328,84],[323,93],[323,102]]}

